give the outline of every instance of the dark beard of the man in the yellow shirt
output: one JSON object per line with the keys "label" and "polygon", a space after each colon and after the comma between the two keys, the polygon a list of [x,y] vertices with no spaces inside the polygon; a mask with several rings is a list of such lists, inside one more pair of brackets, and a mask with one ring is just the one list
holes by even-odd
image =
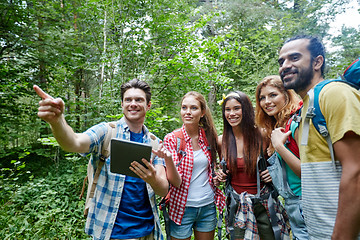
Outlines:
{"label": "dark beard of the man in the yellow shirt", "polygon": [[[293,71],[293,70],[290,70],[290,71]],[[310,63],[308,68],[306,68],[300,72],[297,71],[297,74],[298,74],[297,78],[295,80],[292,80],[289,82],[285,82],[283,80],[284,75],[281,74],[281,80],[284,83],[285,89],[294,89],[294,91],[297,93],[305,90],[311,84],[311,80],[314,77],[312,63]]]}

